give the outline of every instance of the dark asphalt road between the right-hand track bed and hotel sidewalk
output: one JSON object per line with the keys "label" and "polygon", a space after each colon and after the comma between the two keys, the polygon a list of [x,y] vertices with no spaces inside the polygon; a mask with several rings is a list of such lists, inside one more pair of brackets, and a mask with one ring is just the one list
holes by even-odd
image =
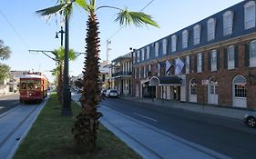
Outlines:
{"label": "dark asphalt road between the right-hand track bed and hotel sidewalk", "polygon": [[240,120],[108,98],[101,104],[232,158],[256,158],[256,129]]}

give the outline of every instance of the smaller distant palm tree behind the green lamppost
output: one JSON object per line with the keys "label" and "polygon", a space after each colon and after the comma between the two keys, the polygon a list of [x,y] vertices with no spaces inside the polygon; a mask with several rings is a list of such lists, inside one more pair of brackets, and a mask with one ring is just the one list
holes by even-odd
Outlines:
{"label": "smaller distant palm tree behind the green lamppost", "polygon": [[[59,49],[54,50],[51,52],[55,55],[55,60],[57,62],[55,74],[57,78],[57,94],[58,94],[58,101],[62,102],[62,90],[63,90],[63,64],[65,60],[65,49],[61,46]],[[77,58],[73,49],[68,51],[68,57],[70,61],[73,61]]]}

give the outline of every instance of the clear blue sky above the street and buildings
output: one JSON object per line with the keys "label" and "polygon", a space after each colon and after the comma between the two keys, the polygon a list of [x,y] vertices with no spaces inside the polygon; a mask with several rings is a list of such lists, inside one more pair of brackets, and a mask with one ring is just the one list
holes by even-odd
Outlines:
{"label": "clear blue sky above the street and buildings", "polygon": [[[148,45],[241,1],[154,0],[148,5],[151,0],[97,0],[97,5],[114,5],[121,8],[128,6],[133,11],[140,11],[148,5],[143,12],[152,15],[160,25],[160,28],[127,26],[114,35],[120,28],[118,23],[114,22],[117,12],[106,8],[98,10],[97,18],[101,39],[100,57],[102,60],[106,60],[106,41],[109,37],[112,37],[110,39],[112,43],[109,45],[111,48],[109,60],[112,60],[119,55],[127,54],[129,47],[139,48]],[[28,50],[54,50],[60,46],[60,39],[55,38],[56,31],[60,30],[60,24],[56,23],[57,18],[53,16],[50,21],[46,21],[46,18],[35,13],[36,10],[55,4],[56,0],[1,0],[0,39],[4,40],[5,45],[10,46],[12,51],[11,58],[1,61],[1,63],[11,66],[12,70],[34,69],[34,71],[45,72],[47,77],[51,81],[53,80],[48,71],[56,67],[55,62],[46,55],[31,54]],[[69,48],[76,52],[85,51],[86,25],[87,15],[75,6],[69,25]],[[75,62],[70,62],[69,74],[81,74],[83,62],[84,55],[78,56]]]}

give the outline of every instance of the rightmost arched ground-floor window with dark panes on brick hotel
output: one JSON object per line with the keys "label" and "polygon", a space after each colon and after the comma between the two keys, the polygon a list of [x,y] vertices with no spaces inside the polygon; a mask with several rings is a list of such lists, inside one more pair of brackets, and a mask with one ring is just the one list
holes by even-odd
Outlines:
{"label": "rightmost arched ground-floor window with dark panes on brick hotel", "polygon": [[235,97],[246,97],[246,79],[238,75],[234,78],[233,84]]}

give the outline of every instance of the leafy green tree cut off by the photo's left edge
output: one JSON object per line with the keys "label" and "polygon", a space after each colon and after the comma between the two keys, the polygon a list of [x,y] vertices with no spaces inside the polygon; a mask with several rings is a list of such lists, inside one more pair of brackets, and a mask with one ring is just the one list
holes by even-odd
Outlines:
{"label": "leafy green tree cut off by the photo's left edge", "polygon": [[[9,46],[5,46],[3,40],[0,39],[0,60],[6,60],[10,57],[11,50]],[[0,63],[0,81],[4,80],[10,72],[10,67]]]}

